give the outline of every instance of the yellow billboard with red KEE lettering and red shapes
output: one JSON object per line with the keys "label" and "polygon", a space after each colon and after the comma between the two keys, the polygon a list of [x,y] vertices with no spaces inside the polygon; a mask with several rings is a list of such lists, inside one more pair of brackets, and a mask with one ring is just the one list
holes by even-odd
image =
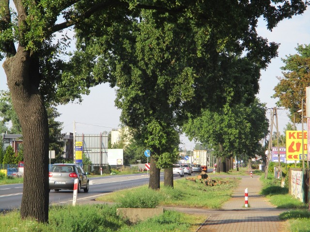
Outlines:
{"label": "yellow billboard with red KEE lettering and red shapes", "polygon": [[302,149],[307,160],[307,131],[304,131],[303,146],[302,131],[286,131],[286,160],[302,160]]}

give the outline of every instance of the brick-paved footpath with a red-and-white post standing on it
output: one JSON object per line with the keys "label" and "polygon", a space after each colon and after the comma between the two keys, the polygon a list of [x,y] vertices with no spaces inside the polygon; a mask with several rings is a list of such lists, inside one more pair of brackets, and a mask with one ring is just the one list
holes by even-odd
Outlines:
{"label": "brick-paved footpath with a red-and-white post standing on it", "polygon": [[[259,195],[262,184],[259,176],[240,176],[239,186],[233,197],[221,210],[209,211],[207,220],[197,232],[283,232],[277,209]],[[248,188],[248,208],[245,208],[245,189]]]}

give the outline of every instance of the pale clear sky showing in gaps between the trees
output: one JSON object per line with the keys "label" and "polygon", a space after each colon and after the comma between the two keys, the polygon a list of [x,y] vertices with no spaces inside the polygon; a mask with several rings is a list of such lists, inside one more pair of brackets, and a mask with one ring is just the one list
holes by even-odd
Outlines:
{"label": "pale clear sky showing in gaps between the trees", "polygon": [[[281,58],[295,54],[297,44],[310,44],[310,9],[303,15],[294,16],[292,19],[285,19],[280,22],[272,32],[268,31],[265,23],[260,21],[258,34],[267,38],[269,42],[280,43],[278,58],[272,59],[269,67],[262,71],[260,81],[260,92],[258,98],[265,102],[267,108],[276,106],[277,99],[271,98],[274,94],[273,88],[278,84],[277,76],[281,76],[280,67],[283,66]],[[0,61],[0,90],[7,89],[6,76],[2,68],[3,61]],[[58,107],[62,114],[58,121],[63,122],[62,132],[73,132],[74,121],[76,121],[77,133],[97,134],[102,131],[111,131],[119,128],[119,116],[121,111],[114,106],[115,91],[108,84],[102,84],[91,89],[89,96],[83,97],[81,104],[67,104]],[[267,117],[270,118],[268,112]],[[289,122],[285,110],[278,110],[279,131]],[[181,147],[187,150],[194,147],[194,142],[188,141],[181,136]]]}

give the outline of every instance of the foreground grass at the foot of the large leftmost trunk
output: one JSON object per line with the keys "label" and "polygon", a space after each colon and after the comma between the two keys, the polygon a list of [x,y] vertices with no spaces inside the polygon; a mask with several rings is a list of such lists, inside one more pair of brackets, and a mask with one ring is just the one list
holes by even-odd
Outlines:
{"label": "foreground grass at the foot of the large leftmost trunk", "polygon": [[[50,206],[49,222],[21,220],[19,211],[0,215],[0,231],[7,232],[194,232],[206,215],[186,215],[165,211],[163,215],[132,224],[116,215],[116,206],[62,205]],[[152,225],[152,226],[150,226]]]}

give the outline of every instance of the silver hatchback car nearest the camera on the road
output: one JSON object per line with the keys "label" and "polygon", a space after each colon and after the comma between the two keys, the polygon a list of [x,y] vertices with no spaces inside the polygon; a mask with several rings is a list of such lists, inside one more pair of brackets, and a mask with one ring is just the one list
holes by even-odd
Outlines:
{"label": "silver hatchback car nearest the camera on the road", "polygon": [[53,164],[48,173],[49,190],[54,189],[58,192],[61,189],[74,189],[74,180],[78,178],[78,192],[81,189],[88,192],[89,179],[88,173],[85,173],[78,164],[57,163]]}

